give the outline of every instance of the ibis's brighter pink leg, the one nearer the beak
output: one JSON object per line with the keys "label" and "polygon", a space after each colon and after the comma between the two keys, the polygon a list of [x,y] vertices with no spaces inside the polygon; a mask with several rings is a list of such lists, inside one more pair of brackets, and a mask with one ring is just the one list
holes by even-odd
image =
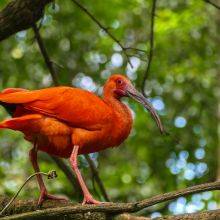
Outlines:
{"label": "ibis's brighter pink leg, the one nearer the beak", "polygon": [[82,175],[79,171],[79,168],[78,168],[78,164],[77,164],[77,156],[78,156],[78,150],[79,150],[79,146],[78,145],[75,145],[74,148],[73,148],[73,151],[72,151],[72,154],[70,156],[70,164],[72,166],[72,169],[74,170],[75,174],[76,174],[76,177],[79,181],[79,184],[81,186],[81,189],[83,191],[83,196],[84,196],[84,199],[83,199],[83,205],[84,204],[100,204],[101,202],[95,200],[92,195],[90,194],[83,178],[82,178]]}

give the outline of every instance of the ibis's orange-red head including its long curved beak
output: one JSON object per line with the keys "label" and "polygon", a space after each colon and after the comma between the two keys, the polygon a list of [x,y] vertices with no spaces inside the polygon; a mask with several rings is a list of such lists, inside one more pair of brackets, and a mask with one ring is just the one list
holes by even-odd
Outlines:
{"label": "ibis's orange-red head including its long curved beak", "polygon": [[134,99],[150,112],[151,116],[156,121],[160,132],[162,134],[165,133],[165,130],[156,110],[153,108],[150,102],[135,89],[135,87],[132,85],[131,81],[127,77],[120,74],[112,75],[104,86],[104,95],[110,95],[115,97],[116,99],[120,99],[121,97],[130,97]]}

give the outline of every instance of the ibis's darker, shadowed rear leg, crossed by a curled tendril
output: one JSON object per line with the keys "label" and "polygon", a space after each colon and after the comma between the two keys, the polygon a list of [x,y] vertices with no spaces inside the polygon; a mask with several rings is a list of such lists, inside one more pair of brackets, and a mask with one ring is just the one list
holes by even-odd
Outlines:
{"label": "ibis's darker, shadowed rear leg, crossed by a curled tendril", "polygon": [[[34,171],[40,172],[39,165],[37,162],[37,146],[34,144],[34,147],[29,151],[29,157],[30,161],[33,165]],[[40,174],[37,175],[37,181],[40,187],[40,197],[38,199],[38,206],[42,205],[42,203],[47,199],[53,199],[53,200],[67,200],[66,198],[53,196],[47,193],[46,186],[44,184],[43,178]]]}

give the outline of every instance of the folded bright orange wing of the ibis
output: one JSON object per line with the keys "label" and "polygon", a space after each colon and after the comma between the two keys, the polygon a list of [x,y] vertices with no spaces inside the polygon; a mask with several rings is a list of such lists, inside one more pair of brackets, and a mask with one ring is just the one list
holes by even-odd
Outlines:
{"label": "folded bright orange wing of the ibis", "polygon": [[69,125],[99,130],[111,120],[111,108],[95,94],[71,87],[0,93],[0,102],[57,118]]}

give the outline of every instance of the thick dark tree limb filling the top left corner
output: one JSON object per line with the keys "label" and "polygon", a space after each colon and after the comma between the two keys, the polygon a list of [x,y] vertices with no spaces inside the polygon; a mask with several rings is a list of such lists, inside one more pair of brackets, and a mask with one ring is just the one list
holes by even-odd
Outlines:
{"label": "thick dark tree limb filling the top left corner", "polygon": [[0,41],[30,28],[42,16],[52,0],[14,0],[0,12]]}

